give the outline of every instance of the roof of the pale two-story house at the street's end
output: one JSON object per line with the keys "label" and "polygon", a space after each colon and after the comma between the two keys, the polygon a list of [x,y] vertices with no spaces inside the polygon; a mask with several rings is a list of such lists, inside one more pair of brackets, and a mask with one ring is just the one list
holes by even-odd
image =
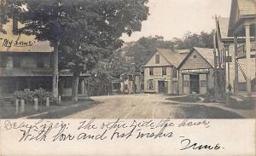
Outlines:
{"label": "roof of the pale two-story house at the street's end", "polygon": [[[177,67],[183,61],[185,56],[189,53],[189,50],[188,49],[172,50],[172,49],[159,49],[159,48],[157,48],[155,53],[159,53],[172,66]],[[148,60],[145,61],[143,66],[145,66],[148,63],[148,61],[152,58],[152,56],[155,55],[155,53],[153,55],[150,55],[150,57],[148,57]]]}

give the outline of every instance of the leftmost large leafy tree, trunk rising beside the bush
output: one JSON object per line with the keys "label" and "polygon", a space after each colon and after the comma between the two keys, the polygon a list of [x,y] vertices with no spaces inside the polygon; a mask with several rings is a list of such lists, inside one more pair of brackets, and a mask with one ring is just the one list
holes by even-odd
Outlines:
{"label": "leftmost large leafy tree, trunk rising beside the bush", "polygon": [[72,6],[67,0],[5,0],[1,3],[1,9],[5,10],[3,19],[18,18],[24,24],[20,33],[35,35],[39,41],[47,40],[54,47],[52,93],[55,98],[58,97],[58,52],[62,39],[68,35],[70,21],[65,14],[73,12]]}

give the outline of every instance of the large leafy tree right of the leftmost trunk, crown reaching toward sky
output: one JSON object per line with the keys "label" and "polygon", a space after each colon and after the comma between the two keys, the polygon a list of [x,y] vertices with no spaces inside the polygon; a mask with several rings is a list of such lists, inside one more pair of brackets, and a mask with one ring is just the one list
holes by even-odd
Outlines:
{"label": "large leafy tree right of the leftmost trunk, crown reaching toward sky", "polygon": [[72,42],[63,43],[69,50],[62,53],[63,60],[67,61],[65,67],[73,72],[74,101],[78,100],[79,74],[92,70],[98,61],[121,47],[123,41],[119,38],[123,33],[131,35],[132,32],[140,31],[141,22],[148,17],[146,3],[147,0],[81,3],[77,19],[84,20],[86,25],[79,24],[70,31],[72,35],[67,41]]}

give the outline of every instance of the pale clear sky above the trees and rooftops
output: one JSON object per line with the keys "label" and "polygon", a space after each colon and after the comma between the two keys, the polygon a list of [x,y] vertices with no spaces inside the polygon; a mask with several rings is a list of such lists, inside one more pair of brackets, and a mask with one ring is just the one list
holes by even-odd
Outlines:
{"label": "pale clear sky above the trees and rooftops", "polygon": [[149,0],[148,6],[148,20],[143,21],[141,32],[123,35],[125,42],[155,35],[172,40],[186,32],[211,32],[214,15],[229,17],[231,0]]}

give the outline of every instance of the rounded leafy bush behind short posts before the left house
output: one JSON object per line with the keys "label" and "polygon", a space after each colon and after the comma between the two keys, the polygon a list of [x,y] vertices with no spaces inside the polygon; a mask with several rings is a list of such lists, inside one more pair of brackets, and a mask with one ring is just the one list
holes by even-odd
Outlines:
{"label": "rounded leafy bush behind short posts before the left house", "polygon": [[16,99],[24,99],[27,104],[32,104],[34,98],[38,98],[38,103],[43,104],[47,97],[50,97],[50,93],[45,91],[44,89],[40,88],[38,90],[17,90],[14,93]]}

